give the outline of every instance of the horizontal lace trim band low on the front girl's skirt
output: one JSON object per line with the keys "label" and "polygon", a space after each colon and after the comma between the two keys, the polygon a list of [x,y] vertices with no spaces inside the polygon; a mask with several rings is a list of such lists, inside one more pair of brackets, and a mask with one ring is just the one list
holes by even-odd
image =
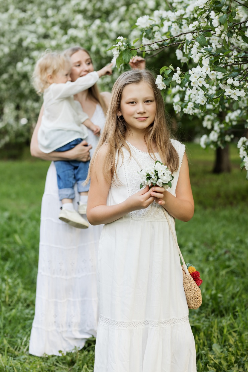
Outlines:
{"label": "horizontal lace trim band low on the front girl's skirt", "polygon": [[102,325],[107,325],[110,328],[116,329],[135,329],[135,328],[161,328],[161,327],[169,327],[171,325],[180,325],[189,322],[189,316],[186,315],[185,317],[178,317],[178,318],[170,318],[165,320],[133,320],[131,322],[122,322],[118,320],[113,320],[110,318],[106,318],[103,315],[100,315],[99,323]]}

